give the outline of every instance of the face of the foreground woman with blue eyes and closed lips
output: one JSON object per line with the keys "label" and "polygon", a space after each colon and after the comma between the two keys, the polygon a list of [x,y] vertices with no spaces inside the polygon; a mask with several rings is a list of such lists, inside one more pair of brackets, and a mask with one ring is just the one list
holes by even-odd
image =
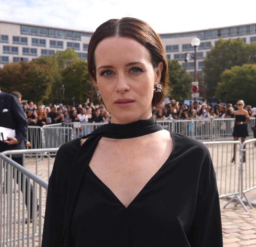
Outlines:
{"label": "face of the foreground woman with blue eyes and closed lips", "polygon": [[103,39],[95,49],[96,78],[111,122],[126,124],[152,116],[154,86],[163,64],[153,68],[149,51],[125,37]]}

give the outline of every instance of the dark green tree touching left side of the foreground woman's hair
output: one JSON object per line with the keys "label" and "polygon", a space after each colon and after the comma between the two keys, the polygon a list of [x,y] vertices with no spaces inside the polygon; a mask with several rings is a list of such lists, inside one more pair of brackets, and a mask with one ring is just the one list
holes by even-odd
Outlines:
{"label": "dark green tree touching left side of the foreground woman's hair", "polygon": [[87,62],[76,60],[62,70],[62,83],[65,87],[65,99],[84,103],[91,96],[91,83],[87,72]]}

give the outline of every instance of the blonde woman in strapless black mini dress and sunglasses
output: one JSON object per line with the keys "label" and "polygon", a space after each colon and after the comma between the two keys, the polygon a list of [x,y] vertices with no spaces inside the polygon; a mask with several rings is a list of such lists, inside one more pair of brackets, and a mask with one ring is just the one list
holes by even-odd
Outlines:
{"label": "blonde woman in strapless black mini dress and sunglasses", "polygon": [[[234,141],[238,141],[241,137],[242,143],[245,141],[245,138],[249,135],[247,124],[251,122],[248,111],[243,109],[245,102],[243,100],[238,100],[237,110],[234,112],[235,116],[235,125],[233,130]],[[231,162],[235,162],[235,153],[236,153],[236,144],[234,144],[234,154]],[[243,152],[243,162],[245,162],[245,152]]]}

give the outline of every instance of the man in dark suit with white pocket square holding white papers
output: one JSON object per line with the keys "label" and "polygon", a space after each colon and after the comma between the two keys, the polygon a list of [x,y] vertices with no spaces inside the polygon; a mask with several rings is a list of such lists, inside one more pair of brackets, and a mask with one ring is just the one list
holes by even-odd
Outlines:
{"label": "man in dark suit with white pocket square holding white papers", "polygon": [[[0,126],[10,129],[15,129],[15,137],[9,137],[8,140],[0,141],[0,152],[7,150],[25,149],[24,138],[27,132],[27,119],[23,108],[18,99],[11,94],[6,94],[0,90]],[[12,155],[12,159],[18,164],[23,165],[23,155]],[[21,176],[21,191],[23,192],[23,183]],[[18,181],[18,179],[17,179]],[[27,192],[27,177],[26,177],[26,192]],[[33,187],[30,184],[30,219],[32,219],[32,198]],[[27,206],[27,193],[25,196]]]}

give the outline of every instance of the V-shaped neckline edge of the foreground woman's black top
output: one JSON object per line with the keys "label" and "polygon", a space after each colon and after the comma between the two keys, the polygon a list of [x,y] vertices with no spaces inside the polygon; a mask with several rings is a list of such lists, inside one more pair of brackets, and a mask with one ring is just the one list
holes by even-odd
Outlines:
{"label": "V-shaped neckline edge of the foreground woman's black top", "polygon": [[128,206],[126,207],[121,200],[115,195],[115,193],[105,184],[103,183],[103,181],[101,179],[99,179],[99,177],[93,172],[93,170],[91,169],[91,167],[88,165],[87,169],[89,169],[89,171],[93,174],[93,176],[95,176],[95,178],[111,193],[111,195],[114,196],[114,198],[118,201],[119,204],[121,204],[125,209],[128,209],[130,207],[131,204],[133,204],[133,202],[137,199],[137,197],[139,197],[141,195],[141,193],[145,190],[145,188],[147,187],[147,185],[150,183],[151,180],[154,179],[155,176],[157,176],[157,174],[162,170],[162,168],[165,166],[165,164],[167,162],[169,162],[172,154],[175,152],[174,148],[175,148],[175,143],[174,143],[174,138],[172,133],[170,132],[170,135],[172,137],[173,140],[173,149],[170,153],[170,155],[168,156],[167,160],[161,165],[161,167],[159,167],[159,169],[154,173],[154,175],[147,181],[147,183],[142,187],[142,189],[139,191],[139,193],[134,197],[134,199],[128,204]]}

